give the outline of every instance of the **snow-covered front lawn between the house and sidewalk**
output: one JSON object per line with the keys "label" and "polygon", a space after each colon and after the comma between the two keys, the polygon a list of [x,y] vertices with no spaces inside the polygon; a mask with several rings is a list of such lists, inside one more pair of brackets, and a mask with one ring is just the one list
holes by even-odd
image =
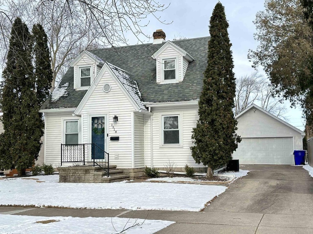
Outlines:
{"label": "snow-covered front lawn between the house and sidewalk", "polygon": [[[55,180],[53,176],[48,179],[42,176],[42,180]],[[32,179],[11,179],[0,180],[0,205],[200,211],[226,188],[177,183],[37,183]]]}

